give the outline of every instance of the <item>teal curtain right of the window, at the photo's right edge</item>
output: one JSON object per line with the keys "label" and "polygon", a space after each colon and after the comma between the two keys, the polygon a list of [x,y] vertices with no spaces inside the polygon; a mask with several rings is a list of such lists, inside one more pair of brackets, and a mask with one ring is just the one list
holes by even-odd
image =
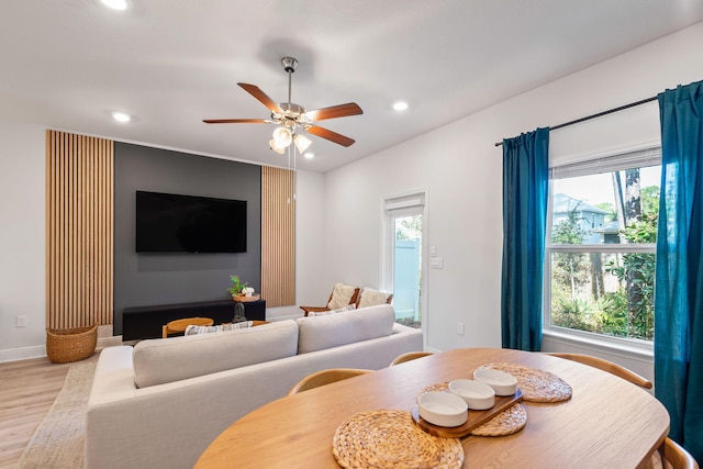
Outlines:
{"label": "teal curtain right of the window, at the photo's right edge", "polygon": [[703,81],[659,94],[656,395],[672,439],[703,461]]}

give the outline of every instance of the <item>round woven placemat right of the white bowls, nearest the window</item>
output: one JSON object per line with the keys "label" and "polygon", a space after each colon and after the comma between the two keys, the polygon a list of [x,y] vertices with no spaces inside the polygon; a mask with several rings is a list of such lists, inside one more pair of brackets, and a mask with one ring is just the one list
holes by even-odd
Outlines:
{"label": "round woven placemat right of the white bowls, nearest the window", "polygon": [[517,379],[517,387],[523,390],[524,401],[561,402],[571,399],[571,387],[549,371],[505,362],[484,364],[477,369],[484,368],[514,376]]}

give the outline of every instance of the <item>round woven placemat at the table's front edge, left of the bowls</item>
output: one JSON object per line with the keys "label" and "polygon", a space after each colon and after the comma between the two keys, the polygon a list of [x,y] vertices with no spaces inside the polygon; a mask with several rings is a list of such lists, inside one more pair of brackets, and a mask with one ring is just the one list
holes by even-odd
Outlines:
{"label": "round woven placemat at the table's front edge, left of the bowls", "polygon": [[417,428],[410,412],[360,412],[339,425],[332,451],[344,468],[460,468],[464,448],[457,438],[439,438]]}

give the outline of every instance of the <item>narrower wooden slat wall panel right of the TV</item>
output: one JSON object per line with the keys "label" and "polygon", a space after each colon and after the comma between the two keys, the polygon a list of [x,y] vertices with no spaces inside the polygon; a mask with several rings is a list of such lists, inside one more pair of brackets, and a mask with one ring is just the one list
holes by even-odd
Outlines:
{"label": "narrower wooden slat wall panel right of the TV", "polygon": [[267,308],[295,304],[293,171],[261,167],[261,298]]}

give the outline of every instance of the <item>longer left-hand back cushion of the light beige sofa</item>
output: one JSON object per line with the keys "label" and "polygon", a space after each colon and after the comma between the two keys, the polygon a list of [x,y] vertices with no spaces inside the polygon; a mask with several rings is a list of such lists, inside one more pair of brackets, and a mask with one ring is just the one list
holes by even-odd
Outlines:
{"label": "longer left-hand back cushion of the light beige sofa", "polygon": [[256,327],[142,340],[134,346],[137,388],[194,378],[295,355],[298,325],[280,321]]}

